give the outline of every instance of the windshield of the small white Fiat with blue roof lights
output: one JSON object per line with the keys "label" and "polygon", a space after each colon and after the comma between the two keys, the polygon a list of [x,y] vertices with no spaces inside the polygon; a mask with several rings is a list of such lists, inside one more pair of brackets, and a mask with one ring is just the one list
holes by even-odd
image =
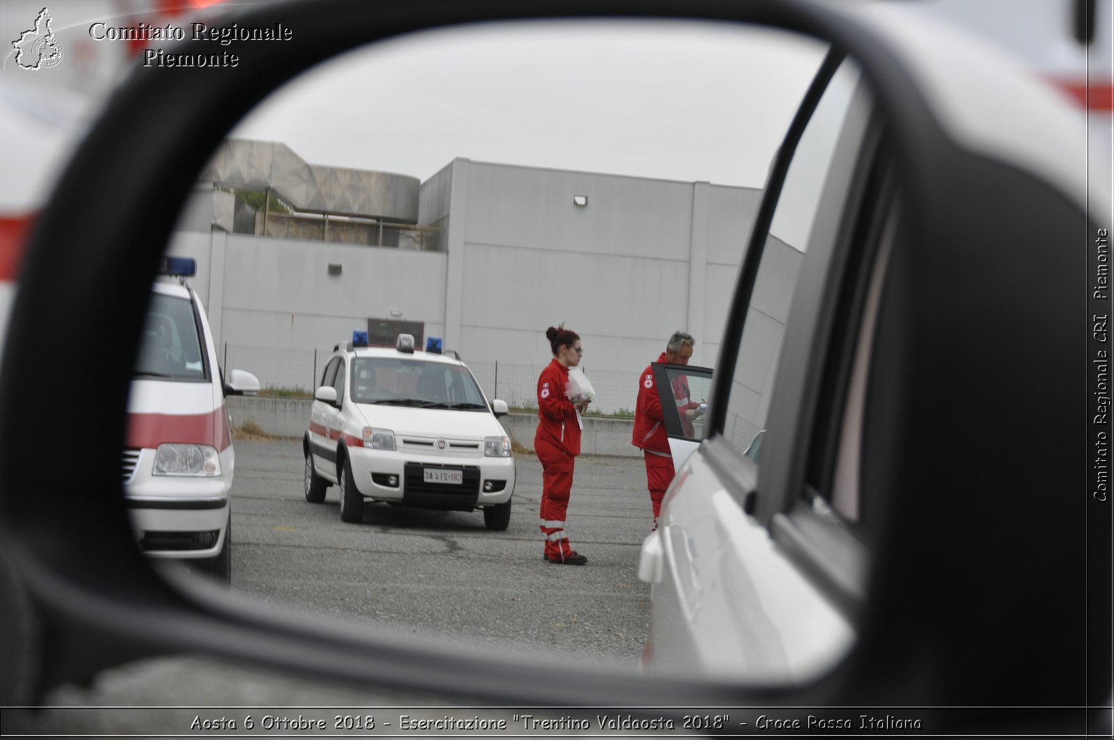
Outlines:
{"label": "windshield of the small white Fiat with blue roof lights", "polygon": [[487,408],[483,393],[468,368],[393,358],[352,361],[352,400],[421,408]]}

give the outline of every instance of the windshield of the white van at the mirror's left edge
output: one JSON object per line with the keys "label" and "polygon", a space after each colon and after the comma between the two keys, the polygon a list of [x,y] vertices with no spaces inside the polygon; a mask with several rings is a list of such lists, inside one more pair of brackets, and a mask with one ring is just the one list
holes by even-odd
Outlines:
{"label": "windshield of the white van at the mirror's left edge", "polygon": [[152,295],[136,361],[137,378],[206,380],[197,318],[188,299]]}

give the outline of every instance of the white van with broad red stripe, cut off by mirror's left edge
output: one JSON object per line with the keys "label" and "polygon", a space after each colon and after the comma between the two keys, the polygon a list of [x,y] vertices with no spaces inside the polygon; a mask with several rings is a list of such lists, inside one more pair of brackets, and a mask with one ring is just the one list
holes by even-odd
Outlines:
{"label": "white van with broad red stripe, cut off by mirror's left edge", "polygon": [[233,370],[224,386],[188,257],[165,257],[128,400],[125,502],[143,552],[179,558],[222,580],[232,574],[235,456],[225,393],[254,395],[260,381]]}

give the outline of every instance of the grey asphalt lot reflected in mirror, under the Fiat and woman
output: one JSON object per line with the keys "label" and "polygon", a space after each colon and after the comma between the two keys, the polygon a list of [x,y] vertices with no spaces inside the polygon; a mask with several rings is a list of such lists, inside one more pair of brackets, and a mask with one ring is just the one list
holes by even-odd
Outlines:
{"label": "grey asphalt lot reflected in mirror, under the Fiat and woman", "polygon": [[387,504],[345,524],[335,486],[322,504],[305,500],[301,442],[237,441],[233,590],[278,608],[636,666],[649,596],[638,553],[652,516],[642,461],[577,459],[566,527],[585,566],[541,559],[541,466],[519,455],[516,468],[506,532],[485,528],[479,510]]}

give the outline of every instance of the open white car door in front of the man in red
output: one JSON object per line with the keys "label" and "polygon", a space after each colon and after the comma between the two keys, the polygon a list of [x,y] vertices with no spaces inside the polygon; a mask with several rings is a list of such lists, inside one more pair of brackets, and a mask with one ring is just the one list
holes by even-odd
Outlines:
{"label": "open white car door in front of the man in red", "polygon": [[688,364],[652,362],[654,384],[662,403],[665,434],[680,469],[704,438],[704,416],[712,390],[712,369]]}

